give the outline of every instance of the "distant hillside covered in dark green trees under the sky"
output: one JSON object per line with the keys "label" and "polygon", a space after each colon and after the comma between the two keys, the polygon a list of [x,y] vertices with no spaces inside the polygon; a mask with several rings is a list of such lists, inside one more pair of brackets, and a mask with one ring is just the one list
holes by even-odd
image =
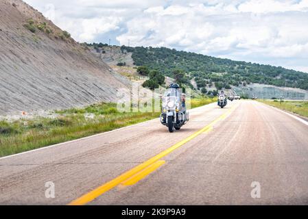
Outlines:
{"label": "distant hillside covered in dark green trees under the sky", "polygon": [[308,90],[307,73],[282,67],[233,61],[165,47],[122,46],[121,50],[132,53],[135,65],[147,66],[163,75],[173,77],[176,70],[181,70],[187,76],[185,83],[189,84],[194,79],[200,89],[211,86],[230,89],[230,86],[262,83]]}

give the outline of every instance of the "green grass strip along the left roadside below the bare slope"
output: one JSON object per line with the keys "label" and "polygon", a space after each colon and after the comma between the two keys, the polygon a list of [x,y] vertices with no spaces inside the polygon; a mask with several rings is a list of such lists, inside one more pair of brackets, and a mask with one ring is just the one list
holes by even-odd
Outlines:
{"label": "green grass strip along the left roadside below the bare slope", "polygon": [[[215,100],[213,100],[215,101]],[[213,102],[191,99],[191,107]],[[117,111],[116,103],[99,103],[84,108],[56,111],[55,118],[37,117],[0,121],[0,157],[67,142],[158,118],[155,112]]]}

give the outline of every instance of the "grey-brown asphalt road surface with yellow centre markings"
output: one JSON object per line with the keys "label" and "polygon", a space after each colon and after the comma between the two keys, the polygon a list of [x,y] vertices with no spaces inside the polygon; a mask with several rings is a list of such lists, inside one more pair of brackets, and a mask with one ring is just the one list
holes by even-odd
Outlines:
{"label": "grey-brown asphalt road surface with yellow centre markings", "polygon": [[308,204],[308,125],[229,101],[191,110],[174,133],[156,119],[0,159],[1,205],[69,203]]}

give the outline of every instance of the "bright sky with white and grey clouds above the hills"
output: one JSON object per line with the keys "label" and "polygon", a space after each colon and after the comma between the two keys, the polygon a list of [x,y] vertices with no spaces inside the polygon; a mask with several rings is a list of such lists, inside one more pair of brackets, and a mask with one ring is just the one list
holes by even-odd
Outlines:
{"label": "bright sky with white and grey clouds above the hills", "polygon": [[169,47],[308,73],[308,0],[25,0],[79,42]]}

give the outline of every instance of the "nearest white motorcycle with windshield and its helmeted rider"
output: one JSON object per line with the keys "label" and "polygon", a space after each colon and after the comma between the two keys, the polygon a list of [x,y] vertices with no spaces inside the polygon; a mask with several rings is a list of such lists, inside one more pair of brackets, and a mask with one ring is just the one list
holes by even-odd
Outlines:
{"label": "nearest white motorcycle with windshield and its helmeted rider", "polygon": [[171,84],[163,94],[161,124],[168,127],[169,132],[180,130],[189,121],[189,112],[185,105],[185,95],[178,84]]}

